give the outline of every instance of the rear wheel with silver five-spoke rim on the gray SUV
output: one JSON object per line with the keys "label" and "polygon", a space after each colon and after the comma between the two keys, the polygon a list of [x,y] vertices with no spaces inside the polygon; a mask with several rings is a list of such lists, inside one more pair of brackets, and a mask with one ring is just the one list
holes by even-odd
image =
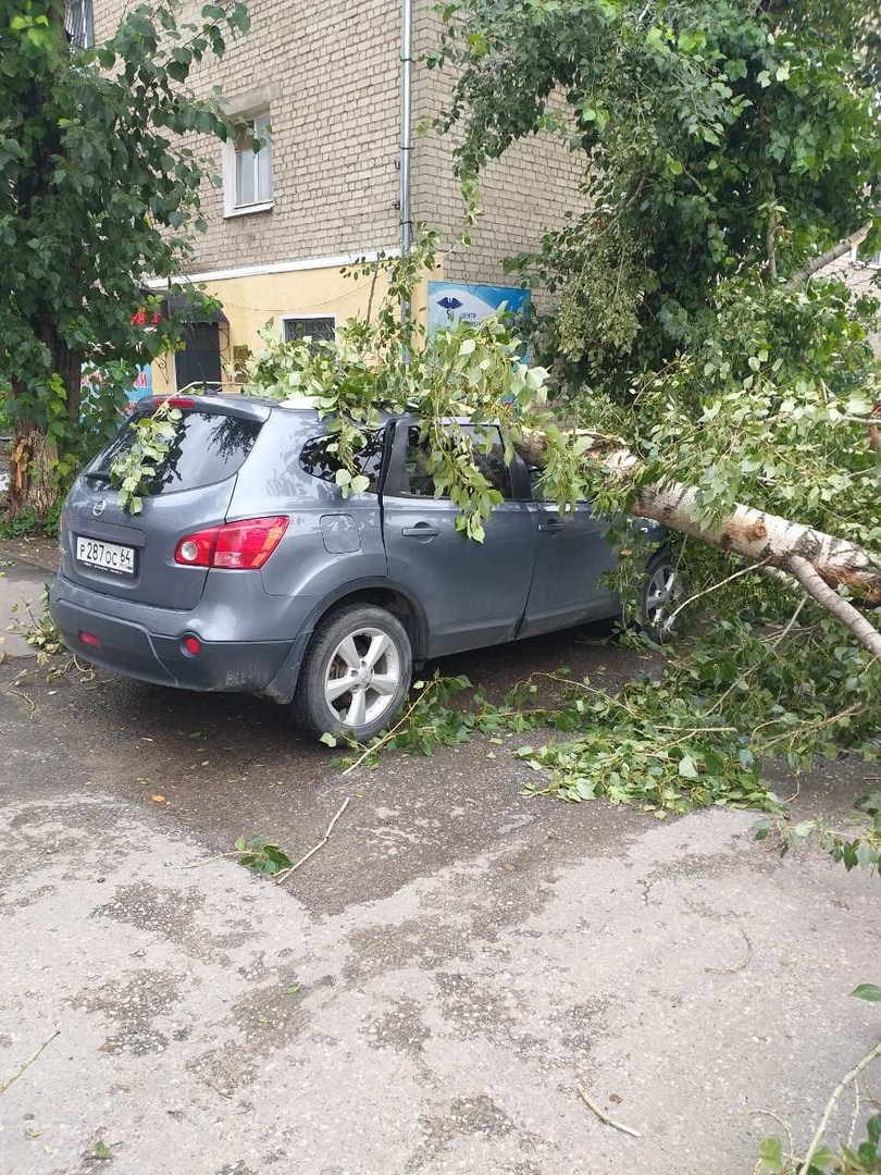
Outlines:
{"label": "rear wheel with silver five-spoke rim on the gray SUV", "polygon": [[312,738],[348,736],[364,743],[391,724],[412,669],[410,638],[397,617],[372,604],[339,607],[309,642],[294,716]]}

